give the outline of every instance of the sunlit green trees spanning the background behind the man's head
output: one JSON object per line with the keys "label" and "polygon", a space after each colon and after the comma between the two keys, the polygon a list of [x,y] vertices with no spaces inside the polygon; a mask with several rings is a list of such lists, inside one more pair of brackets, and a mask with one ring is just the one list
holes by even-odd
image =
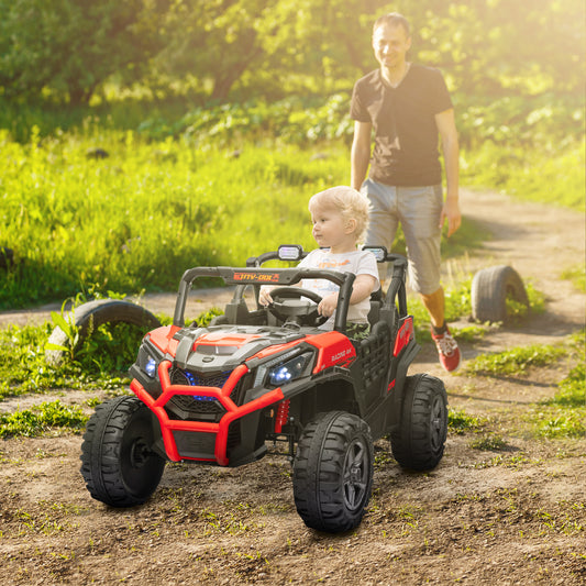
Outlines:
{"label": "sunlit green trees spanning the background behind the man's head", "polygon": [[[349,90],[376,66],[372,24],[391,10],[411,21],[410,58],[445,70],[456,93],[479,93],[486,104],[555,96],[548,108],[582,90],[581,0],[2,0],[0,8],[0,86],[24,97],[48,89],[87,99],[107,76],[122,89],[140,79],[153,99]],[[499,118],[497,133],[515,122]]]}

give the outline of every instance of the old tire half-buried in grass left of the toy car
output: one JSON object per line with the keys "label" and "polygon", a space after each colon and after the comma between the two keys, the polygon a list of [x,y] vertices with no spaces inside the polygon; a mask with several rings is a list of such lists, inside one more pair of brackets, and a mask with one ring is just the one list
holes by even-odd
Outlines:
{"label": "old tire half-buried in grass left of the toy car", "polygon": [[[74,321],[75,325],[79,329],[76,346],[79,346],[102,323],[132,323],[139,328],[144,328],[145,332],[161,325],[161,321],[151,311],[124,299],[97,299],[95,301],[88,301],[76,307],[65,319],[69,323]],[[57,325],[48,338],[48,344],[68,346],[69,339]],[[47,350],[45,352],[45,358],[49,364],[58,364],[63,356],[63,350]]]}

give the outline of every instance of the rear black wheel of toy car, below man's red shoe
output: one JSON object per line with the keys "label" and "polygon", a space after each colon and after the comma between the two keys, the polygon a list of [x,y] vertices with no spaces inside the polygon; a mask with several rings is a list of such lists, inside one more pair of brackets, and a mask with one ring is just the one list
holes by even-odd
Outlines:
{"label": "rear black wheel of toy car, below man's red shoe", "polygon": [[408,376],[399,428],[390,433],[392,456],[402,468],[429,471],[443,456],[447,436],[447,395],[427,374]]}

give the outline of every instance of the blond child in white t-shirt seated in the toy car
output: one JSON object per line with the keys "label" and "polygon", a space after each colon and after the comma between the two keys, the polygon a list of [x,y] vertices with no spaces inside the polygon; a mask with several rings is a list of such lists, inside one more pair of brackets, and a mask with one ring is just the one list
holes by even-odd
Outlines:
{"label": "blond child in white t-shirt seated in the toy car", "polygon": [[[347,313],[347,333],[351,336],[353,333],[364,334],[368,329],[371,294],[380,287],[374,254],[357,250],[368,222],[368,201],[355,189],[340,186],[316,194],[308,207],[313,223],[312,235],[320,248],[311,251],[298,266],[356,275]],[[331,330],[338,307],[338,285],[327,279],[303,279],[301,287],[322,298],[318,312],[329,319],[320,328]],[[263,306],[273,302],[270,289],[267,286],[261,288],[258,300]]]}

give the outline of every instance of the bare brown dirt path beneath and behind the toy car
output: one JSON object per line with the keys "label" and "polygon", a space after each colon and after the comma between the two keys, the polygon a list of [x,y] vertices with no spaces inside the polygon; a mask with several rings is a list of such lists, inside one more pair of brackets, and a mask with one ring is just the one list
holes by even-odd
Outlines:
{"label": "bare brown dirt path beneath and behind the toy car", "polygon": [[[457,270],[508,264],[548,296],[546,311],[497,328],[464,358],[556,343],[584,327],[586,296],[561,278],[585,257],[581,213],[463,191],[465,217],[493,237]],[[458,265],[460,264],[460,265]],[[198,291],[202,307],[225,291]],[[147,296],[173,313],[175,295]],[[58,308],[58,306],[56,306]],[[44,320],[53,307],[7,312],[0,327]],[[456,325],[466,325],[461,323]],[[92,500],[79,474],[79,434],[0,443],[2,584],[543,584],[586,583],[586,440],[535,439],[530,420],[572,367],[570,361],[517,377],[446,375],[431,344],[411,372],[446,385],[452,408],[483,418],[480,433],[450,434],[440,465],[401,471],[377,442],[374,494],[362,526],[330,535],[298,517],[286,457],[269,453],[241,468],[169,464],[144,506]],[[60,392],[82,402],[84,392]],[[19,397],[2,410],[49,395]],[[493,450],[477,440],[500,439]],[[490,447],[485,442],[485,447]],[[476,445],[476,447],[475,447]]]}

